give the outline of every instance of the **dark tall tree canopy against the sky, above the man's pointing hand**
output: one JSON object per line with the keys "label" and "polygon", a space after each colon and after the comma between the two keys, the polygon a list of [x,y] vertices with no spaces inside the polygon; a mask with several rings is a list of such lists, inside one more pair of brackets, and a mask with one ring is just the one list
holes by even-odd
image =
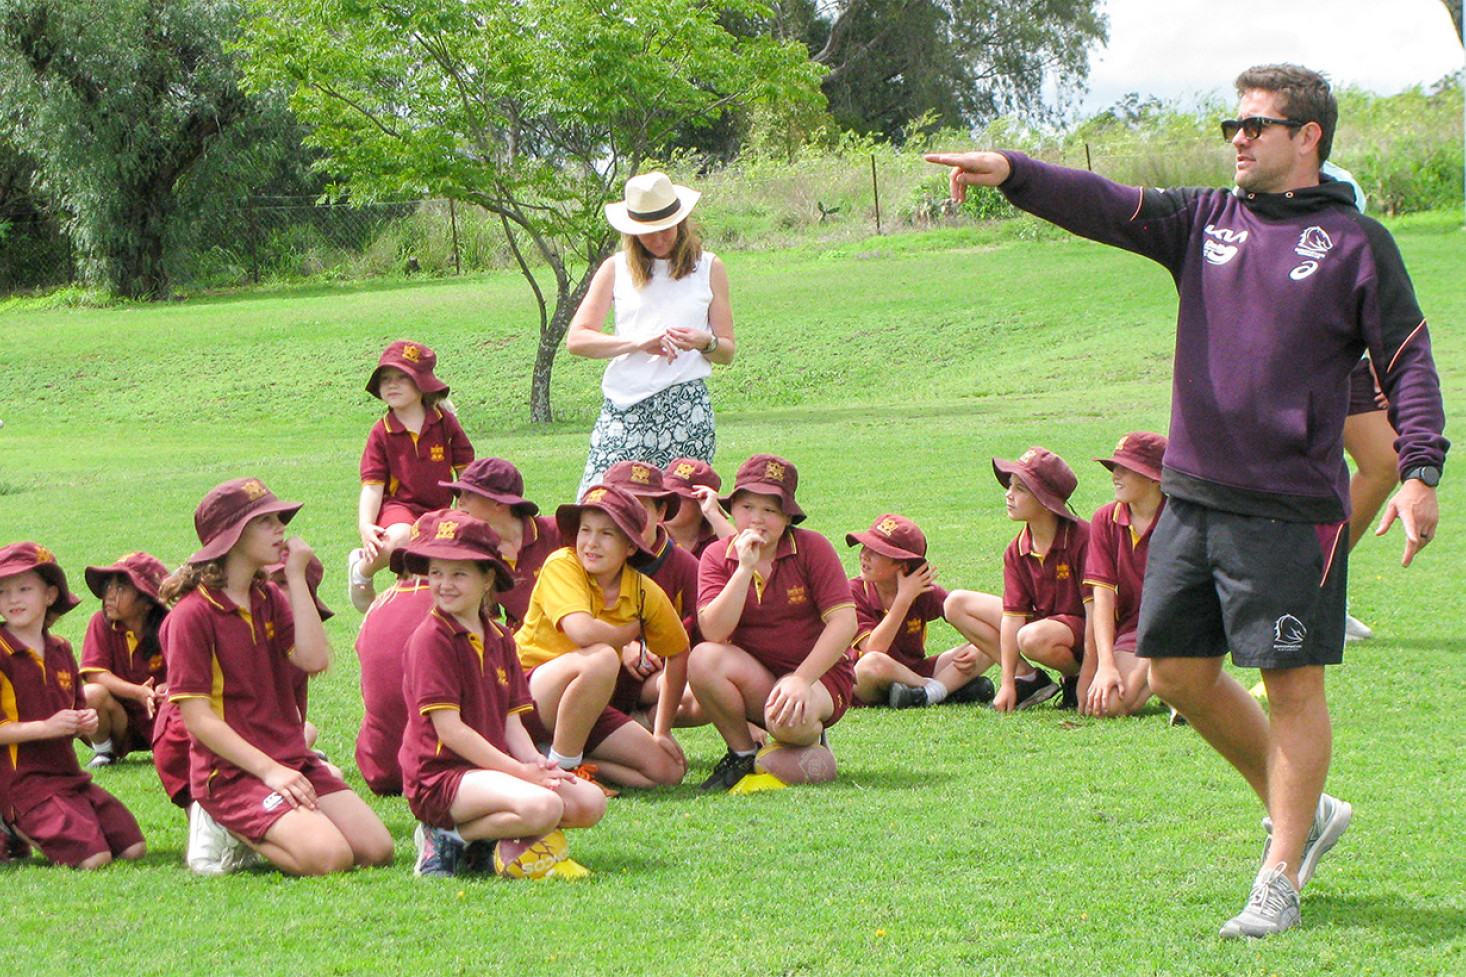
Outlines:
{"label": "dark tall tree canopy against the sky, above the man's pointing hand", "polygon": [[899,139],[929,114],[949,126],[1041,114],[1044,85],[1073,87],[1107,40],[1098,0],[808,0],[806,25],[830,111]]}

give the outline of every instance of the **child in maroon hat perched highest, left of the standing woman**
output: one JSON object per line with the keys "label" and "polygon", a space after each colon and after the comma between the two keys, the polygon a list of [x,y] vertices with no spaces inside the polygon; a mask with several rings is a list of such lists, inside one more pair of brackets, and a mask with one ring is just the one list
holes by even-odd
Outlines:
{"label": "child in maroon hat perched highest, left of the standing woman", "polygon": [[449,384],[434,376],[437,362],[422,343],[399,339],[366,380],[366,393],[386,402],[387,414],[366,436],[356,505],[362,544],[346,559],[347,596],[362,613],[375,597],[372,574],[408,538],[413,519],[452,505],[443,486],[474,461],[468,434],[443,406]]}

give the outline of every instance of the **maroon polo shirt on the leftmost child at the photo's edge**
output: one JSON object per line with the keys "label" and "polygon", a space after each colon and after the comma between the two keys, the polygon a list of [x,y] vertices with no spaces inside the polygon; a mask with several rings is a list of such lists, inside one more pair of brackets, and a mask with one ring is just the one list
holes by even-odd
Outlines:
{"label": "maroon polo shirt on the leftmost child at the photo's edge", "polygon": [[[72,645],[47,634],[45,648],[37,651],[0,625],[0,726],[45,720],[63,709],[86,709]],[[91,782],[76,763],[72,736],[15,742],[0,747],[0,805],[9,820]]]}

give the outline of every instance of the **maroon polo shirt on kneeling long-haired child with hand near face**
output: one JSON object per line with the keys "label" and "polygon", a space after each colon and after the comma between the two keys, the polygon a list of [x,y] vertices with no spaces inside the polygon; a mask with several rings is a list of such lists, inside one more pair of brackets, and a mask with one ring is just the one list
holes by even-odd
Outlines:
{"label": "maroon polo shirt on kneeling long-haired child with hand near face", "polygon": [[[290,662],[293,651],[290,600],[279,585],[264,581],[251,585],[248,609],[201,585],[163,622],[169,700],[208,700],[214,714],[252,747],[299,769],[311,754],[298,700],[303,672]],[[202,795],[208,777],[223,769],[233,764],[191,736],[194,795]]]}

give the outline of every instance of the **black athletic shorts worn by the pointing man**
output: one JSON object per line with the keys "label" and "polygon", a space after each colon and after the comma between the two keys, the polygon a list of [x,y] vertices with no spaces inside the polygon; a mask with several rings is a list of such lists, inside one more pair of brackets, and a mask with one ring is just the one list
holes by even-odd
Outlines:
{"label": "black athletic shorts worn by the pointing man", "polygon": [[1138,654],[1290,669],[1344,657],[1349,524],[1170,499],[1151,534]]}

